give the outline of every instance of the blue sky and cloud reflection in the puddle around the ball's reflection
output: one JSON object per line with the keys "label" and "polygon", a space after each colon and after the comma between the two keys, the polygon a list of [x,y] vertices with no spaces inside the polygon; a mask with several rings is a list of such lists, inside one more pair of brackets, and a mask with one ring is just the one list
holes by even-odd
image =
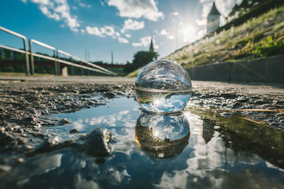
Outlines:
{"label": "blue sky and cloud reflection in the puddle around the ball's reflection", "polygon": [[[249,151],[226,147],[220,133],[212,130],[207,142],[202,136],[204,121],[185,113],[190,139],[173,161],[151,159],[135,142],[136,121],[141,114],[133,98],[76,113],[55,115],[70,125],[48,127],[62,140],[76,139],[97,127],[111,130],[111,154],[100,161],[72,149],[62,149],[27,159],[6,173],[4,188],[283,188],[284,171]],[[153,119],[159,122],[159,118]],[[214,125],[213,125],[214,127]],[[216,126],[215,126],[216,127]],[[96,163],[101,162],[101,163]],[[4,181],[4,182],[3,182]],[[7,183],[7,185],[5,185]],[[44,183],[44,184],[43,184]],[[1,186],[0,185],[0,186]]]}

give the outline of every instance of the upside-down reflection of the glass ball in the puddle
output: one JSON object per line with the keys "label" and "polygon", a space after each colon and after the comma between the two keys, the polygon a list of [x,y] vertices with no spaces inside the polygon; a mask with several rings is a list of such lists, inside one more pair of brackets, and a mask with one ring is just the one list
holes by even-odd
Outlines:
{"label": "upside-down reflection of the glass ball in the puddle", "polygon": [[136,123],[135,138],[138,147],[151,158],[171,159],[187,146],[190,124],[184,114],[142,112]]}

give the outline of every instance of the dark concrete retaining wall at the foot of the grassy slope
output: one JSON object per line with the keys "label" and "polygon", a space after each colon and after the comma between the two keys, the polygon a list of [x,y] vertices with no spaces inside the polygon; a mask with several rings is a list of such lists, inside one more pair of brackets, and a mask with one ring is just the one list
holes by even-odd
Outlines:
{"label": "dark concrete retaining wall at the foot of the grassy slope", "polygon": [[192,80],[284,84],[284,55],[187,68]]}

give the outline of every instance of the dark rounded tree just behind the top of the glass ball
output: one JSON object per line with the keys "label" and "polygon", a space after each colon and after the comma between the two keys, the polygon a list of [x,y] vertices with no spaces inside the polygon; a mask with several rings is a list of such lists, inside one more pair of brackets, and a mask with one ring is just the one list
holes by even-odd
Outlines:
{"label": "dark rounded tree just behind the top of the glass ball", "polygon": [[158,59],[158,53],[153,51],[138,51],[133,55],[132,64],[141,64],[141,66]]}

